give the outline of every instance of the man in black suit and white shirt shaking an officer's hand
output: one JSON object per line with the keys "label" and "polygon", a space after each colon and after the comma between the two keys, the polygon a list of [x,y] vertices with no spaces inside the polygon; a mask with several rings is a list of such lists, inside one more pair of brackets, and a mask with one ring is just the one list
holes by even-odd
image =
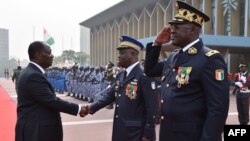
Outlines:
{"label": "man in black suit and white shirt shaking an officer's hand", "polygon": [[30,63],[18,81],[15,140],[62,141],[60,112],[77,115],[84,108],[56,97],[44,75],[54,57],[48,45],[35,41],[29,45],[28,54]]}

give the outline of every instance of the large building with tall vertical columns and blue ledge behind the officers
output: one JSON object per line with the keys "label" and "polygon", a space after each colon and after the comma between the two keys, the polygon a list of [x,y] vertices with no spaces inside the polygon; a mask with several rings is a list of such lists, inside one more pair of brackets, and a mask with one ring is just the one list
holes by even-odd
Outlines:
{"label": "large building with tall vertical columns and blue ledge behind the officers", "polygon": [[[80,23],[90,28],[90,62],[116,62],[121,35],[139,39],[146,45],[172,20],[176,0],[124,0]],[[239,62],[250,66],[250,2],[248,0],[184,0],[205,12],[210,21],[202,27],[204,44],[219,50],[236,72]],[[82,40],[82,39],[81,39]],[[166,49],[166,54],[173,48]],[[140,55],[144,57],[144,53]]]}

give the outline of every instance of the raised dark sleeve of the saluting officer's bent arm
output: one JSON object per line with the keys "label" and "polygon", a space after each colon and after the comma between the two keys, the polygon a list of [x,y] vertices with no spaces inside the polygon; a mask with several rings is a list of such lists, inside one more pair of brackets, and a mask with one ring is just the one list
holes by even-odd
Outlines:
{"label": "raised dark sleeve of the saluting officer's bent arm", "polygon": [[160,46],[152,46],[152,43],[147,44],[144,66],[144,72],[147,76],[159,77],[162,75],[164,63],[158,63],[160,51]]}

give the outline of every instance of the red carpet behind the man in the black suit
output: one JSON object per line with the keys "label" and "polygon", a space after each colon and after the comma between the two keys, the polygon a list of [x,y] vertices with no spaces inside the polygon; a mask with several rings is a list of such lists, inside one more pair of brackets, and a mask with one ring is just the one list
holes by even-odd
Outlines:
{"label": "red carpet behind the man in the black suit", "polygon": [[0,141],[15,140],[16,103],[0,86]]}

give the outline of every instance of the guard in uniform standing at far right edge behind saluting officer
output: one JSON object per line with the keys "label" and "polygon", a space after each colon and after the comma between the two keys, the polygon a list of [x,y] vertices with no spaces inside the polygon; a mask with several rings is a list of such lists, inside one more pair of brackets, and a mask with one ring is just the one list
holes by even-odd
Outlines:
{"label": "guard in uniform standing at far right edge behind saluting officer", "polygon": [[240,72],[235,75],[236,104],[240,125],[247,125],[249,122],[249,96],[250,96],[250,73],[247,71],[247,64],[239,64]]}

